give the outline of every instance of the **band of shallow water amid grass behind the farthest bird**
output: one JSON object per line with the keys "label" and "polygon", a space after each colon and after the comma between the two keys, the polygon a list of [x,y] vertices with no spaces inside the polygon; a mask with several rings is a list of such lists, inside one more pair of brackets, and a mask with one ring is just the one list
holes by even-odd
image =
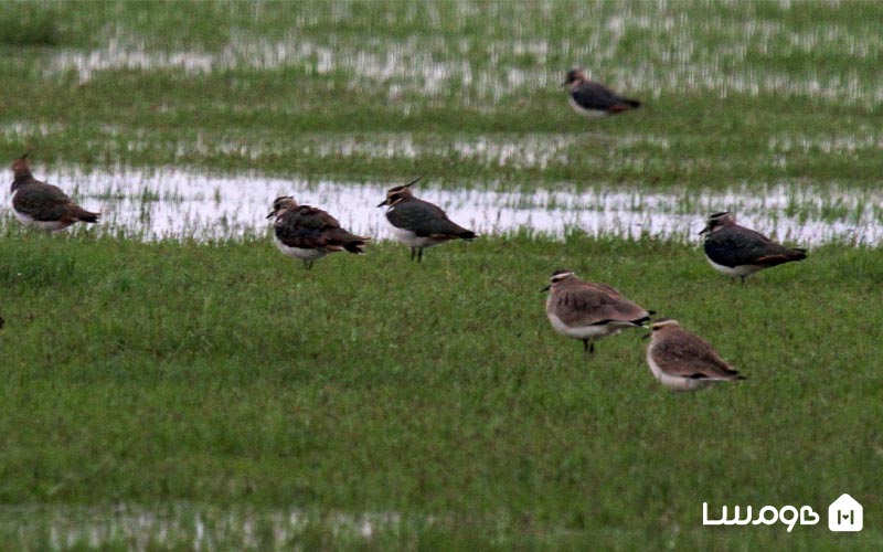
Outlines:
{"label": "band of shallow water amid grass behind the farthest bird", "polygon": [[[43,73],[56,76],[73,72],[81,83],[86,83],[103,71],[172,70],[202,75],[294,68],[308,75],[347,74],[355,81],[382,84],[391,102],[406,102],[416,95],[440,102],[457,98],[462,105],[487,107],[528,91],[554,87],[565,68],[555,66],[562,59],[592,60],[596,71],[602,68],[603,74],[596,75],[602,79],[621,89],[652,91],[657,97],[691,91],[714,91],[720,97],[784,94],[868,108],[883,99],[880,77],[861,71],[838,74],[830,71],[829,64],[819,63],[794,72],[755,63],[758,59],[819,55],[819,51],[832,57],[864,61],[883,46],[880,33],[855,35],[834,24],[794,30],[780,21],[759,18],[738,23],[711,18],[696,24],[683,13],[640,11],[645,11],[640,3],[624,4],[616,15],[605,15],[606,24],[597,32],[556,41],[531,35],[528,29],[502,29],[506,22],[496,23],[498,26],[489,29],[488,36],[480,38],[446,33],[427,23],[418,38],[365,40],[347,33],[315,35],[295,28],[276,40],[235,32],[234,39],[217,50],[164,51],[150,49],[145,39],[117,30],[99,49],[54,54]],[[585,19],[599,17],[586,15]],[[301,23],[309,26],[306,21]],[[732,40],[721,47],[705,47],[709,41],[720,42],[722,33]],[[646,42],[647,51],[653,52],[652,62],[664,71],[648,70],[645,59],[624,59],[619,43],[629,38]]]}

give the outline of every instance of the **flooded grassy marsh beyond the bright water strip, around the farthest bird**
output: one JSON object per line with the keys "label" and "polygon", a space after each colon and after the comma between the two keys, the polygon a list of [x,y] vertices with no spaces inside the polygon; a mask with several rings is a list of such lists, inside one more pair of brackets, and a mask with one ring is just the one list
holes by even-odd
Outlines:
{"label": "flooded grassy marsh beyond the bright water strip, around the farthest bird", "polygon": [[[873,2],[41,6],[57,45],[0,45],[6,158],[26,145],[50,162],[341,179],[418,171],[453,188],[868,187],[879,177],[880,34],[869,22],[883,14]],[[560,83],[579,64],[646,106],[576,117]],[[390,134],[416,151],[387,151]],[[482,135],[565,147],[543,163],[451,148]],[[365,148],[339,150],[352,142]]]}

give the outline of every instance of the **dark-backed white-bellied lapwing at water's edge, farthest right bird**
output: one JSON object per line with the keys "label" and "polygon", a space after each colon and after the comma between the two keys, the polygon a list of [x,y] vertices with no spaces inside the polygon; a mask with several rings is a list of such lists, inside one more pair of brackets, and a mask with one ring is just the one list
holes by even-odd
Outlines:
{"label": "dark-backed white-bellied lapwing at water's edge, farthest right bird", "polygon": [[709,264],[720,273],[742,278],[743,284],[764,268],[807,258],[806,250],[785,247],[740,226],[728,212],[709,216],[701,234],[705,234],[703,248]]}

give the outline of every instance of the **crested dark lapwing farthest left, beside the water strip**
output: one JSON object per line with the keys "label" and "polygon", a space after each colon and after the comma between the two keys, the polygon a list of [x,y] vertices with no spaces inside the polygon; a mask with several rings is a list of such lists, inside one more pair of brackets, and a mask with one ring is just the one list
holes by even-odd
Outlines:
{"label": "crested dark lapwing farthest left, beside the water strip", "polygon": [[12,212],[19,222],[51,232],[75,222],[98,222],[100,213],[86,211],[60,188],[36,180],[26,158],[24,153],[12,161]]}

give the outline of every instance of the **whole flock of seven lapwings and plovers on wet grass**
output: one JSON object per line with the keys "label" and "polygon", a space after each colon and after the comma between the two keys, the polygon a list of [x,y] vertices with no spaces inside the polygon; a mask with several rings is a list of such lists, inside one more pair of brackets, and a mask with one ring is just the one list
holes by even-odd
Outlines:
{"label": "whole flock of seven lapwings and plovers on wet grass", "polygon": [[[585,72],[567,73],[571,105],[589,116],[615,115],[640,106],[640,102],[620,96],[606,86],[591,82]],[[12,210],[21,223],[46,231],[58,231],[76,222],[95,223],[99,213],[87,211],[55,185],[34,179],[28,153],[12,163]],[[450,240],[472,240],[475,232],[448,219],[438,205],[414,197],[407,184],[391,188],[377,208],[386,206],[386,220],[395,236],[411,247],[411,258],[423,259],[423,250]],[[358,236],[341,227],[326,211],[299,205],[291,197],[276,198],[267,219],[274,220],[273,240],[285,255],[300,259],[307,269],[331,253],[364,253],[370,237]],[[740,226],[728,212],[709,216],[704,252],[719,272],[745,278],[784,263],[806,258],[806,251],[789,248],[763,234]],[[647,363],[653,376],[674,391],[708,388],[717,382],[745,379],[700,337],[683,329],[677,320],[651,321],[653,311],[630,301],[606,284],[585,282],[571,270],[552,274],[546,300],[546,316],[552,327],[570,338],[579,339],[592,354],[595,341],[628,328],[650,325]]]}

